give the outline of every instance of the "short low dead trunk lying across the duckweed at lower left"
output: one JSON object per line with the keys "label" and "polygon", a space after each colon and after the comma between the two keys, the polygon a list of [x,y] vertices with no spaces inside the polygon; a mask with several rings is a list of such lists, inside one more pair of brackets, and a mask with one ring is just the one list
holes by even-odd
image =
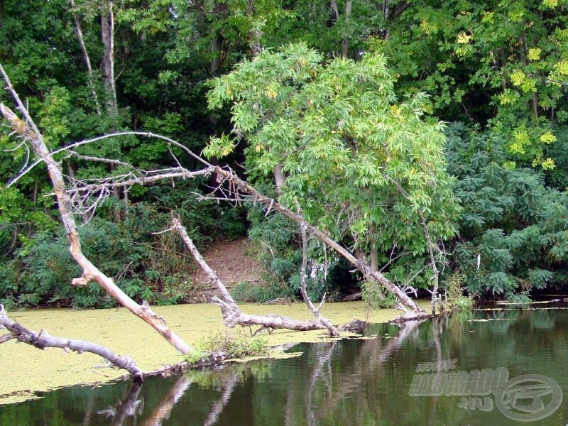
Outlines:
{"label": "short low dead trunk lying across the duckweed at lower left", "polygon": [[10,320],[2,305],[0,305],[0,325],[9,331],[8,334],[4,334],[4,336],[0,337],[0,343],[17,339],[18,342],[30,344],[38,349],[61,348],[65,351],[75,351],[78,354],[90,352],[102,356],[114,366],[124,368],[131,374],[135,381],[143,381],[144,379],[142,371],[140,371],[140,368],[136,366],[136,363],[129,356],[117,355],[110,349],[92,342],[51,337],[45,330],[39,333],[31,332],[21,324]]}

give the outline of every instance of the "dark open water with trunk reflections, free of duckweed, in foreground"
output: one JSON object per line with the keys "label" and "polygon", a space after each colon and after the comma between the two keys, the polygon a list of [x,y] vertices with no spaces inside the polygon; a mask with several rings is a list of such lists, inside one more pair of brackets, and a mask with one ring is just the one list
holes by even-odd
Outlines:
{"label": "dark open water with trunk reflections, free of duckweed, in foreground", "polygon": [[367,339],[142,386],[65,388],[0,406],[0,425],[566,425],[568,310],[542,306],[378,324]]}

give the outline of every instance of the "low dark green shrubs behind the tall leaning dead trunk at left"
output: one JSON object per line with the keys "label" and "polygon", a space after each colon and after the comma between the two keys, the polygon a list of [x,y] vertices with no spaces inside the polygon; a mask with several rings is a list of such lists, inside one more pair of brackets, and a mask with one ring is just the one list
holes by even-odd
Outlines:
{"label": "low dark green shrubs behind the tall leaning dead trunk at left", "polygon": [[[162,236],[149,243],[148,234],[136,228],[139,223],[114,224],[92,219],[80,228],[85,255],[134,300],[168,305],[184,299],[191,289],[187,261],[178,255],[180,248],[171,237]],[[110,307],[116,302],[92,283],[73,288],[72,278],[80,268],[72,261],[69,244],[62,229],[41,231],[26,239],[0,285],[0,298],[18,305],[63,305]]]}

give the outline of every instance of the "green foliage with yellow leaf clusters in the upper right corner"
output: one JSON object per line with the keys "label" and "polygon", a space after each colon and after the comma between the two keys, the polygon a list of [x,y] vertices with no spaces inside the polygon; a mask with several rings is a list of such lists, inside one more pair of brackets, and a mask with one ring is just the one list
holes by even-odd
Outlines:
{"label": "green foliage with yellow leaf clusters in the upper right corner", "polygon": [[557,2],[426,1],[410,6],[378,45],[401,91],[425,90],[447,121],[488,124],[511,161],[555,167],[551,125],[566,118],[566,13]]}

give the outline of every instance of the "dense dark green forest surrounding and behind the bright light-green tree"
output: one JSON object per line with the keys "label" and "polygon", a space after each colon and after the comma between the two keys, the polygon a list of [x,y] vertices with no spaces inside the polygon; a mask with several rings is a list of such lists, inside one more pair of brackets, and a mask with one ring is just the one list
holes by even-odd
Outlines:
{"label": "dense dark green forest surrounding and behind the bright light-green tree", "polygon": [[[568,282],[567,7],[564,0],[0,0],[0,62],[51,149],[136,130],[208,153],[215,151],[210,140],[239,131],[244,119],[230,104],[211,109],[214,94],[207,97],[237,64],[283,47],[306,58],[317,51],[323,64],[383,55],[396,99],[420,96],[427,119],[445,123],[444,168],[459,207],[452,209],[452,230],[439,232],[447,253],[443,285],[525,300],[535,290],[564,292]],[[281,64],[262,63],[252,71],[260,80],[263,70],[279,72]],[[344,66],[345,73],[354,70]],[[71,261],[47,173],[18,174],[28,153],[10,132],[0,128],[0,303],[114,305],[97,285],[67,285],[80,268]],[[99,182],[125,173],[121,161],[138,170],[175,166],[169,150],[163,141],[124,136],[58,160],[70,182]],[[239,143],[216,161],[276,195],[273,176],[254,166],[254,151]],[[194,161],[175,155],[188,168]],[[295,297],[297,226],[253,205],[198,201],[211,185],[203,178],[134,186],[97,209],[84,206],[85,253],[134,299],[182,302],[192,290],[190,257],[173,235],[153,234],[175,209],[202,247],[244,235],[258,243],[266,282],[237,286],[241,297]],[[381,231],[372,225],[362,221],[359,232]],[[423,236],[404,221],[393,226],[388,238],[366,240],[376,263],[400,285],[428,288]],[[353,245],[351,236],[343,238]],[[362,287],[368,300],[388,303],[315,242],[310,258],[312,297]]]}

